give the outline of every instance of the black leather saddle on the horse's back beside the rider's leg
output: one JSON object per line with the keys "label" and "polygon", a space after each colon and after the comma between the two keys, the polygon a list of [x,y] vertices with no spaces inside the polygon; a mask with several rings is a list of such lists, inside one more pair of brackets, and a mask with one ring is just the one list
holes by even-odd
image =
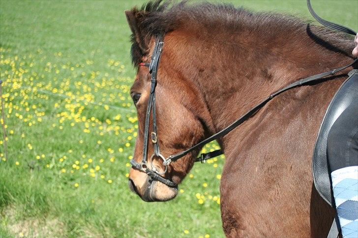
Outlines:
{"label": "black leather saddle on the horse's back beside the rider's leg", "polygon": [[332,206],[334,198],[328,171],[327,137],[328,132],[335,120],[340,116],[344,109],[346,109],[353,102],[353,100],[357,98],[358,70],[354,69],[348,75],[348,79],[346,79],[340,86],[328,106],[317,136],[312,159],[314,185],[321,197],[330,206]]}

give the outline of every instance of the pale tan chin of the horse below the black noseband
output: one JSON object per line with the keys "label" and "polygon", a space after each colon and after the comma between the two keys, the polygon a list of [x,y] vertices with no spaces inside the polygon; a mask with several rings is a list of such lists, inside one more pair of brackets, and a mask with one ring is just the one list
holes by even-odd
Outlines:
{"label": "pale tan chin of the horse below the black noseband", "polygon": [[141,198],[146,202],[165,202],[175,198],[177,194],[178,186],[170,187],[158,181],[151,181]]}

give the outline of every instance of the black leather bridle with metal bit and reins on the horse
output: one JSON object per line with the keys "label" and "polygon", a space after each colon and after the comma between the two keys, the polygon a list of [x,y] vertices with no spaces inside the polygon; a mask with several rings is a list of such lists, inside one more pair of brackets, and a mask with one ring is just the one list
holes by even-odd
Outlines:
{"label": "black leather bridle with metal bit and reins on the horse", "polygon": [[[320,22],[321,24],[323,24],[324,26],[327,26],[329,28],[338,30],[338,31],[342,31],[348,34],[356,34],[355,31],[353,31],[352,29],[349,29],[345,26],[340,26],[334,23],[330,23],[328,21],[323,20],[322,18],[320,18],[319,16],[317,16],[317,14],[313,11],[309,0],[307,0],[307,4],[308,4],[308,8],[311,12],[311,14],[313,15],[313,17]],[[318,79],[322,79],[324,77],[327,77],[329,75],[334,75],[335,73],[342,71],[350,66],[352,66],[353,64],[355,64],[357,62],[357,59],[355,59],[352,63],[337,68],[337,69],[333,69],[318,75],[314,75],[314,76],[310,76],[304,79],[299,79],[297,81],[295,81],[294,83],[289,84],[288,86],[276,91],[275,93],[269,95],[269,97],[267,97],[265,100],[263,100],[261,103],[259,103],[258,105],[254,106],[253,108],[251,108],[248,112],[246,112],[244,115],[242,115],[239,119],[237,119],[235,122],[233,122],[231,125],[229,125],[228,127],[226,127],[225,129],[221,130],[220,132],[217,132],[213,135],[211,135],[210,137],[208,137],[207,139],[199,142],[198,144],[190,147],[189,149],[179,152],[175,155],[171,155],[167,158],[165,158],[162,154],[160,154],[160,150],[159,150],[159,140],[158,140],[158,134],[157,134],[157,125],[156,125],[156,113],[155,113],[155,87],[157,84],[157,73],[158,73],[158,66],[159,66],[159,61],[160,61],[160,56],[161,53],[163,51],[163,45],[164,45],[164,35],[158,35],[156,36],[156,40],[155,40],[155,44],[154,44],[154,49],[153,49],[153,53],[151,55],[151,60],[150,63],[140,63],[140,66],[145,66],[145,67],[149,67],[149,74],[150,74],[150,92],[149,92],[149,100],[148,100],[148,106],[147,106],[147,112],[146,112],[146,121],[145,121],[145,130],[144,130],[144,146],[143,146],[143,157],[142,157],[142,161],[140,163],[136,162],[134,159],[130,160],[131,165],[140,171],[143,171],[145,173],[148,174],[148,176],[151,178],[151,180],[153,181],[159,181],[165,185],[168,185],[170,187],[175,187],[177,186],[176,183],[174,183],[173,181],[166,179],[164,177],[162,177],[162,175],[164,175],[167,171],[168,171],[168,165],[171,162],[175,162],[178,159],[184,157],[185,155],[189,154],[190,152],[200,149],[202,148],[205,144],[214,141],[224,135],[226,135],[227,133],[231,132],[232,130],[234,130],[235,128],[237,128],[240,124],[242,124],[244,121],[246,121],[248,118],[250,118],[252,115],[254,115],[261,107],[265,106],[271,99],[273,99],[274,97],[276,97],[277,95],[291,89],[297,86],[301,86],[304,84],[307,84],[309,82],[318,80]],[[149,118],[150,118],[150,112],[152,113],[152,120],[153,120],[153,131],[150,132],[150,139],[151,142],[153,143],[153,147],[154,147],[154,152],[153,154],[150,156],[149,160],[147,160],[148,157],[148,137],[149,137]],[[203,153],[200,155],[200,157],[195,159],[195,162],[202,162],[204,163],[207,159],[213,158],[213,157],[217,157],[219,155],[223,154],[223,152],[221,150],[215,150],[213,152],[209,152],[209,153]],[[153,165],[153,158],[154,157],[158,157],[161,160],[163,160],[163,165],[164,165],[164,171],[160,172],[154,165]],[[149,166],[150,164],[150,166]]]}

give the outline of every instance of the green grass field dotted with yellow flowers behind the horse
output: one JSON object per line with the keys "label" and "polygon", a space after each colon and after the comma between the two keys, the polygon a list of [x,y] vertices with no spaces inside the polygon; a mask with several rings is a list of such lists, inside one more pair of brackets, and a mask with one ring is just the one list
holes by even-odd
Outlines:
{"label": "green grass field dotted with yellow flowers behind the horse", "polygon": [[[304,0],[232,2],[311,19]],[[136,4],[0,1],[0,237],[224,236],[223,158],[196,164],[169,202],[128,189],[137,118],[123,11]],[[312,5],[358,29],[356,0]]]}

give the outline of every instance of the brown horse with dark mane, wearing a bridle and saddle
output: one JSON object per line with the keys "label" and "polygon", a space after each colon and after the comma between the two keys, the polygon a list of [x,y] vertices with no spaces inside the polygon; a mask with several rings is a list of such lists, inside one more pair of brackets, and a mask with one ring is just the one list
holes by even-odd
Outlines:
{"label": "brown horse with dark mane, wearing a bridle and saddle", "polygon": [[[166,157],[222,130],[291,82],[353,59],[352,38],[288,16],[160,1],[125,13],[137,67],[131,88],[139,121],[137,162],[150,87],[148,68],[139,63],[149,62],[158,34],[165,37],[155,108]],[[226,156],[220,185],[226,236],[327,235],[334,211],[313,186],[311,158],[328,103],[351,69],[280,94],[218,140]],[[198,153],[172,162],[163,177],[179,184]],[[153,164],[164,169],[159,158]],[[133,168],[129,186],[145,201],[167,201],[178,191]]]}

